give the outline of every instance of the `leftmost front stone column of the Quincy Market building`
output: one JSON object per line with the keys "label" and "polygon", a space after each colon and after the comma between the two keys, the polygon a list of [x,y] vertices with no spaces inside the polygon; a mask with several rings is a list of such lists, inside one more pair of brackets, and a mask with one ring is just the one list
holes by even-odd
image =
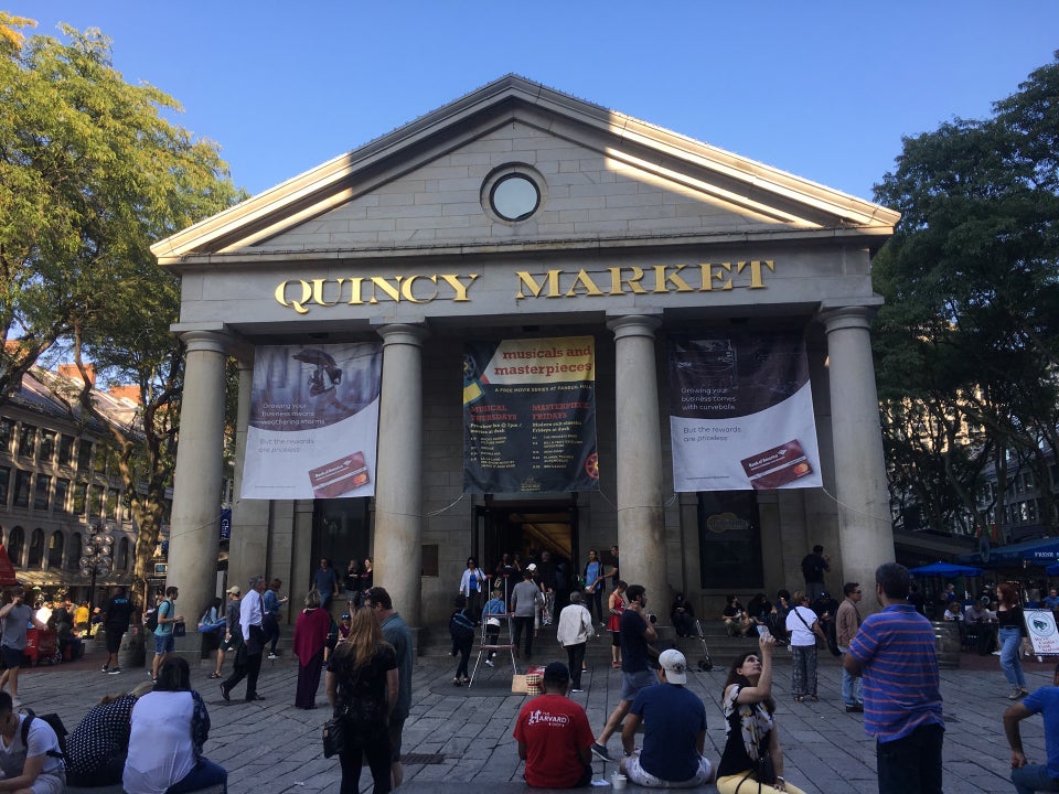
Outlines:
{"label": "leftmost front stone column of the Quincy Market building", "polygon": [[224,367],[231,337],[217,331],[186,331],[181,339],[188,353],[165,583],[180,588],[176,612],[194,630],[216,587],[224,483]]}

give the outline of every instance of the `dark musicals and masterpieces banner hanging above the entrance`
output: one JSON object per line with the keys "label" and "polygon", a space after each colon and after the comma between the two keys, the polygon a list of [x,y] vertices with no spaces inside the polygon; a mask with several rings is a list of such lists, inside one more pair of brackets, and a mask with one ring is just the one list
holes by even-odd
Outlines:
{"label": "dark musicals and masterpieces banner hanging above the entrance", "polygon": [[463,348],[463,491],[598,491],[596,340]]}

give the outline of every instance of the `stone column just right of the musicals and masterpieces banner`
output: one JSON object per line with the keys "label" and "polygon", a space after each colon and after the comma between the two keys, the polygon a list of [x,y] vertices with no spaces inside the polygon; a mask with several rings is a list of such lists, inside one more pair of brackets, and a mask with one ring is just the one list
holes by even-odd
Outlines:
{"label": "stone column just right of the musicals and masterpieces banner", "polygon": [[618,547],[621,578],[642,584],[649,608],[668,623],[670,586],[662,522],[662,437],[659,427],[655,313],[622,314],[614,332]]}

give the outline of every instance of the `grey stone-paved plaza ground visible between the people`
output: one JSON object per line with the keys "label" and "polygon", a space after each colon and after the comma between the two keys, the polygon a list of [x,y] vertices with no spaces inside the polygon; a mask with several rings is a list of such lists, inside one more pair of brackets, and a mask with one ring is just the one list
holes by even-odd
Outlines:
{"label": "grey stone-paved plaza ground visible between the people", "polygon": [[[544,648],[542,648],[543,651]],[[816,704],[794,704],[789,696],[790,673],[782,652],[774,685],[778,720],[787,773],[791,782],[809,794],[874,792],[874,742],[864,736],[860,715],[847,715],[838,697],[839,668],[825,664],[820,668],[820,697]],[[563,654],[565,656],[565,654]],[[950,794],[1013,792],[1007,780],[1008,751],[1001,715],[1010,704],[1009,687],[999,672],[996,657],[964,655],[972,668],[942,672],[948,730],[944,744],[945,791]],[[559,654],[534,662],[564,661]],[[730,659],[715,659],[727,664]],[[472,657],[473,663],[473,657]],[[1050,663],[1026,664],[1030,689],[1050,683]],[[518,791],[522,769],[512,739],[514,720],[525,697],[510,693],[510,669],[485,669],[471,689],[453,687],[454,661],[427,658],[417,664],[414,676],[411,716],[405,726],[405,788],[408,791],[490,792]],[[210,707],[213,729],[206,743],[207,755],[229,771],[232,794],[309,794],[338,788],[339,764],[325,760],[320,750],[320,726],[328,717],[327,698],[321,684],[318,709],[303,711],[291,705],[296,668],[289,663],[266,662],[259,691],[265,700],[246,704],[221,699],[216,682],[206,678],[212,666],[194,668],[192,684]],[[57,711],[73,728],[88,708],[107,691],[129,689],[143,680],[142,669],[121,676],[98,670],[93,656],[75,665],[26,670],[20,680],[24,705],[38,712]],[[707,753],[716,761],[725,742],[720,713],[720,689],[726,670],[694,672],[688,686],[706,704]],[[610,666],[593,666],[582,678],[586,693],[573,696],[588,711],[597,730],[614,707],[619,674]],[[1023,723],[1026,753],[1044,759],[1044,730],[1039,718]],[[611,739],[612,752],[620,750]],[[599,774],[609,775],[613,764],[595,763]],[[498,785],[506,782],[507,785]],[[371,788],[365,770],[362,791]],[[707,786],[704,791],[716,791]]]}

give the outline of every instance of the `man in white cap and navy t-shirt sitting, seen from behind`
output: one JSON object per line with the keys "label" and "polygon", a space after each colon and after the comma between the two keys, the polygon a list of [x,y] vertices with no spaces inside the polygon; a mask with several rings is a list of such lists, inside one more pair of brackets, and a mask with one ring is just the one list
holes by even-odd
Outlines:
{"label": "man in white cap and navy t-shirt sitting, seen from behind", "polygon": [[[637,693],[621,730],[625,758],[618,769],[637,785],[649,788],[691,788],[713,783],[714,770],[703,755],[706,747],[706,707],[685,689],[687,659],[680,651],[659,655],[662,683]],[[637,728],[643,721],[643,749],[634,750]]]}

